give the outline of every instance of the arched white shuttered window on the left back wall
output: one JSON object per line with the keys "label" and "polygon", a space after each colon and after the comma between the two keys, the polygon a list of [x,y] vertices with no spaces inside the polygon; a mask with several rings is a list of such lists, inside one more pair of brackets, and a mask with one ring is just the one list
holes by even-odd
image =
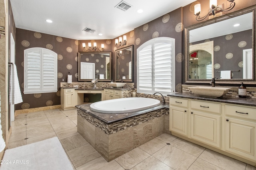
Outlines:
{"label": "arched white shuttered window on the left back wall", "polygon": [[44,48],[24,50],[24,94],[57,91],[57,54]]}

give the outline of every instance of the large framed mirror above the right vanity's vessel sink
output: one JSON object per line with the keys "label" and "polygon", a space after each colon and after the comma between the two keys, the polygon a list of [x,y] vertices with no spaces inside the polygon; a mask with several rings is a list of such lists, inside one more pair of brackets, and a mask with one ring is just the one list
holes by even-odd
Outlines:
{"label": "large framed mirror above the right vanity's vessel sink", "polygon": [[186,83],[256,84],[255,8],[185,28]]}

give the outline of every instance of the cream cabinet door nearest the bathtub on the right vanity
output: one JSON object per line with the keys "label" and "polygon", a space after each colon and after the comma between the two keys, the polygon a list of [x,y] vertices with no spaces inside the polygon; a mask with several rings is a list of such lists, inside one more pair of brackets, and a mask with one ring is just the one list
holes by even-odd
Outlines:
{"label": "cream cabinet door nearest the bathtub on the right vanity", "polygon": [[188,136],[188,109],[170,106],[170,131]]}

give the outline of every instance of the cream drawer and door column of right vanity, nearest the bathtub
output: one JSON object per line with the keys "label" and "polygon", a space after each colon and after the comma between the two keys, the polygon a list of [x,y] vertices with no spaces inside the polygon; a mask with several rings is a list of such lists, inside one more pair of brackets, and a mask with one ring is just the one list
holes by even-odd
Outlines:
{"label": "cream drawer and door column of right vanity, nearest the bathtub", "polygon": [[170,131],[188,136],[188,100],[170,98]]}

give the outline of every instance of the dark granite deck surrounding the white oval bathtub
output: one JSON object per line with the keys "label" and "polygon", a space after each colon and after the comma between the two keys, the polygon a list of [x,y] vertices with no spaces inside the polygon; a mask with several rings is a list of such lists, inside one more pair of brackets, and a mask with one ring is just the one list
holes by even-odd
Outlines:
{"label": "dark granite deck surrounding the white oval bathtub", "polygon": [[130,117],[134,117],[136,115],[146,113],[148,111],[154,111],[154,110],[157,110],[157,109],[169,108],[169,104],[162,104],[161,103],[158,106],[151,107],[151,108],[148,108],[148,109],[143,109],[143,110],[140,110],[140,111],[133,111],[133,112],[127,112],[127,113],[100,113],[100,112],[92,111],[90,109],[90,105],[91,104],[82,104],[82,105],[77,105],[76,107],[78,109],[81,109],[85,113],[88,113],[92,117],[95,117],[95,118],[105,122],[106,124],[121,121],[121,120],[130,118]]}

